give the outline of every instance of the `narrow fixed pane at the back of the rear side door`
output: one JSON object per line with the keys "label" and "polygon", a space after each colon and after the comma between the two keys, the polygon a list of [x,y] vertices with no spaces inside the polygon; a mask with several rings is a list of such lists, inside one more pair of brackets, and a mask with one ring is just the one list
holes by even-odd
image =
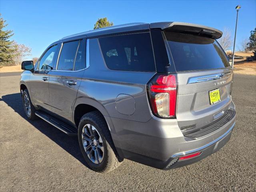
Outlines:
{"label": "narrow fixed pane at the back of the rear side door", "polygon": [[85,68],[85,40],[80,41],[78,51],[76,53],[76,61],[74,70],[80,70]]}

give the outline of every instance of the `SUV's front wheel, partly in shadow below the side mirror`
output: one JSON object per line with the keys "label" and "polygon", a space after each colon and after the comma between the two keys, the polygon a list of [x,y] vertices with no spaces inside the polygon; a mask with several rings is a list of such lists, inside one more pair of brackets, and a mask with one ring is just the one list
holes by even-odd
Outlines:
{"label": "SUV's front wheel, partly in shadow below the side mirror", "polygon": [[[26,113],[26,116],[30,119],[30,120],[35,120],[37,119],[37,116],[35,114],[36,109],[34,108],[34,105],[32,104],[31,100],[30,100],[30,96],[28,93],[28,90],[25,89],[22,93],[22,102],[23,102],[23,107]],[[29,105],[29,106],[28,106]],[[28,108],[30,108],[30,110],[28,110]]]}

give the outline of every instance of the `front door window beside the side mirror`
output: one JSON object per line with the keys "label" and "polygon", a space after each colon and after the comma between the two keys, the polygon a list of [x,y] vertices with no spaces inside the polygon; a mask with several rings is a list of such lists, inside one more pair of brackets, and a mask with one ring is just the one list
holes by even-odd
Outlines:
{"label": "front door window beside the side mirror", "polygon": [[53,58],[56,53],[57,46],[53,46],[44,54],[44,56],[40,59],[39,68],[43,70],[52,70],[53,67]]}

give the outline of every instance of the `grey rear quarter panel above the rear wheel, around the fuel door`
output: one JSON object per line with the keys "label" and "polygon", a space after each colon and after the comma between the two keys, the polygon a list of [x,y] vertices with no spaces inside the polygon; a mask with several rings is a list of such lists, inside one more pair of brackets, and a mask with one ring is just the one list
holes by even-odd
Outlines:
{"label": "grey rear quarter panel above the rear wheel, around the fuel door", "polygon": [[[101,108],[104,116],[147,122],[152,116],[148,105],[146,83],[154,74],[154,72],[109,70],[104,63],[98,39],[90,39],[90,67],[84,71],[75,105],[87,102],[98,109]],[[120,94],[134,98],[134,113],[123,114],[126,109],[122,109],[122,113],[118,112],[116,98]],[[125,105],[122,107],[125,108]],[[129,106],[128,108],[130,110]]]}

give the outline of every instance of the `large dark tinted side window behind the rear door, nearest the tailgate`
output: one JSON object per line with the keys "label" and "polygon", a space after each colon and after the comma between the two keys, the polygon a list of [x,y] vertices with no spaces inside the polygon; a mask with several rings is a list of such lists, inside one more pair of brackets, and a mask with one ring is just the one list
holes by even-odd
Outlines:
{"label": "large dark tinted side window behind the rear door, nearest the tailgate", "polygon": [[156,71],[149,33],[102,37],[99,42],[108,68]]}

